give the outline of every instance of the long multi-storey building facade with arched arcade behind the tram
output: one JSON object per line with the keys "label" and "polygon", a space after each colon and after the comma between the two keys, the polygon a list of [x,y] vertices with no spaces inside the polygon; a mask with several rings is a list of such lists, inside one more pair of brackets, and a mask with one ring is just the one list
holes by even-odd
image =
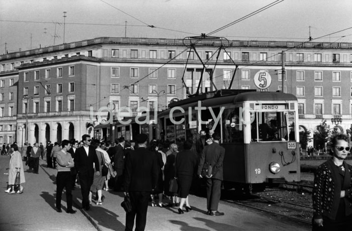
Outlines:
{"label": "long multi-storey building facade with arched arcade behind the tram", "polygon": [[282,51],[284,92],[298,98],[301,130],[313,134],[322,119],[342,118],[342,132],[352,124],[352,43],[228,41],[219,50],[221,42],[203,40],[197,52],[184,43],[102,37],[0,56],[0,142],[93,136],[108,107],[113,118],[135,116],[140,107],[163,110],[198,86],[228,88],[235,64],[233,89],[257,89],[254,79],[265,71],[267,90],[282,90]]}

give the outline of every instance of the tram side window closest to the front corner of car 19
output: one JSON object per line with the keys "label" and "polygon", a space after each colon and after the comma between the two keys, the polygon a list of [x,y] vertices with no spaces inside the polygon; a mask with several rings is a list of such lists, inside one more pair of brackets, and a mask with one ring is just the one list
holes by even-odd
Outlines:
{"label": "tram side window closest to the front corner of car 19", "polygon": [[222,142],[243,143],[243,127],[239,123],[239,108],[225,109],[222,113]]}

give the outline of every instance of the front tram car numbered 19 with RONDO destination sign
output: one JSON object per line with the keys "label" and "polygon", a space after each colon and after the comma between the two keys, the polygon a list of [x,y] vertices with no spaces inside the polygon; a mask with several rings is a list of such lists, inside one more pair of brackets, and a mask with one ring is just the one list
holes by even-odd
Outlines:
{"label": "front tram car numbered 19 with RONDO destination sign", "polygon": [[224,188],[263,190],[300,181],[297,110],[292,94],[222,89],[170,103],[158,123],[177,143],[197,139],[201,129],[218,132]]}

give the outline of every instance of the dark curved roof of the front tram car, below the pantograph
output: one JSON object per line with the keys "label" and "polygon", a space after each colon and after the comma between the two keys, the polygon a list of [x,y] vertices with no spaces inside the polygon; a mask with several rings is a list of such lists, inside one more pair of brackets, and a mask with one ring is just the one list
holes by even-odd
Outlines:
{"label": "dark curved roof of the front tram car, below the pantograph", "polygon": [[195,101],[191,101],[187,99],[187,101],[183,104],[184,100],[178,101],[175,104],[170,104],[169,108],[165,111],[161,112],[158,116],[164,116],[169,113],[172,107],[179,106],[185,110],[191,107],[197,107],[198,101],[201,101],[202,107],[216,107],[226,104],[237,104],[242,103],[244,101],[297,101],[296,96],[292,94],[282,93],[282,92],[243,92],[234,95],[225,95],[225,96],[214,96],[212,98],[203,99],[195,99]]}

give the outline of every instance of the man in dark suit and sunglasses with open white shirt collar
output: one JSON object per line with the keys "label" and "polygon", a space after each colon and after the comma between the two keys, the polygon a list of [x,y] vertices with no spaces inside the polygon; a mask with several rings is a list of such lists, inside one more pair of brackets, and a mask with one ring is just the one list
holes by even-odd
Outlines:
{"label": "man in dark suit and sunglasses with open white shirt collar", "polygon": [[90,146],[91,136],[82,135],[83,146],[76,149],[74,155],[74,167],[78,171],[80,190],[82,192],[82,208],[89,210],[91,207],[89,205],[89,191],[93,184],[94,177],[94,165],[97,171],[97,176],[100,175],[99,172],[99,160],[96,154],[96,150]]}

